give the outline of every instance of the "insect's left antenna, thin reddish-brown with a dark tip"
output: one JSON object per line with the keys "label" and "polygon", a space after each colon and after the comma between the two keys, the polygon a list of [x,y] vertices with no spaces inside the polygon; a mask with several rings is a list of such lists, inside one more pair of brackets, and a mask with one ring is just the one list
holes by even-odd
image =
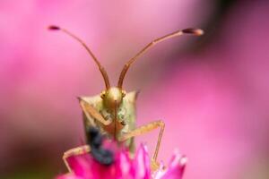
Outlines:
{"label": "insect's left antenna, thin reddish-brown with a dark tip", "polygon": [[48,27],[48,30],[61,30],[63,32],[65,32],[65,34],[71,36],[72,38],[76,39],[78,42],[80,42],[82,44],[83,47],[85,47],[85,49],[87,50],[87,52],[91,55],[91,57],[93,58],[94,62],[98,65],[99,70],[103,76],[103,79],[105,81],[106,84],[106,89],[108,90],[110,88],[110,83],[108,80],[108,73],[106,72],[105,68],[100,64],[100,62],[98,61],[98,59],[95,57],[95,55],[93,55],[93,53],[91,52],[91,49],[89,47],[87,47],[87,45],[82,41],[81,38],[76,37],[73,33],[71,33],[68,30],[65,30],[63,28],[60,28],[58,26],[55,25],[51,25]]}

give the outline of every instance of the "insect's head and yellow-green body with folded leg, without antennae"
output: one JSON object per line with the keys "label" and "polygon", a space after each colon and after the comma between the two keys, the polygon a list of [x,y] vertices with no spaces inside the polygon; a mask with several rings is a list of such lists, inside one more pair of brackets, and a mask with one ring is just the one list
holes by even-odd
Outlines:
{"label": "insect's head and yellow-green body with folded leg, without antennae", "polygon": [[[135,91],[126,93],[117,88],[110,88],[94,97],[79,98],[85,131],[91,126],[98,127],[108,138],[120,141],[122,136],[135,128],[136,97]],[[126,140],[125,144],[134,150],[133,138]]]}

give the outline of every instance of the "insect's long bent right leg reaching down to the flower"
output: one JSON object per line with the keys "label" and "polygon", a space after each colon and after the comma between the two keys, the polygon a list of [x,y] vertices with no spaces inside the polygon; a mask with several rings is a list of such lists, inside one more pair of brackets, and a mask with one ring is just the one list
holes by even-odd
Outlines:
{"label": "insect's long bent right leg reaching down to the flower", "polygon": [[164,132],[164,127],[165,127],[165,124],[162,121],[155,121],[150,124],[145,124],[143,126],[140,126],[134,129],[134,131],[124,134],[122,137],[119,138],[119,141],[126,141],[132,137],[142,135],[143,133],[146,133],[146,132],[152,132],[152,130],[157,129],[157,128],[161,128],[159,132],[159,136],[158,136],[157,145],[156,145],[154,155],[152,158],[152,168],[157,169],[159,167],[158,162],[157,162],[157,157],[158,157],[158,152],[160,149],[161,137]]}

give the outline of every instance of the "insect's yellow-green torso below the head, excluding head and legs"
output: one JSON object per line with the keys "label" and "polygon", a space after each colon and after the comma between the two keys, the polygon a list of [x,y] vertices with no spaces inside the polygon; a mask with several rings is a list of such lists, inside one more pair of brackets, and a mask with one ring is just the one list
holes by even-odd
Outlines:
{"label": "insect's yellow-green torso below the head, excluding head and legs", "polygon": [[[115,137],[118,139],[127,132],[133,131],[135,129],[135,101],[137,94],[138,92],[136,91],[126,93],[126,96],[117,108],[117,117],[115,117],[114,111],[111,111],[111,109],[105,105],[101,95],[80,97],[80,100],[94,107],[106,121],[111,122],[108,125],[104,125],[100,123],[100,121],[96,120],[94,116],[87,115],[83,112],[83,124],[85,131],[87,132],[91,127],[97,127],[100,129],[101,133],[105,134],[110,139],[114,139]],[[90,136],[86,135],[86,137]],[[126,147],[134,151],[134,138],[128,139],[125,141],[125,144]]]}

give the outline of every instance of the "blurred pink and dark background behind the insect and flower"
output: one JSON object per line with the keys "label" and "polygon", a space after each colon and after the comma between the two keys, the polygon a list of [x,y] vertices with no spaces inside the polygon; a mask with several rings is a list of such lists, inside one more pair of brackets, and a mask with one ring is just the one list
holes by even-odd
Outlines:
{"label": "blurred pink and dark background behind the insect and flower", "polygon": [[[77,96],[104,89],[83,38],[116,84],[153,38],[187,27],[126,75],[141,90],[137,124],[163,119],[160,159],[188,157],[185,179],[269,178],[269,1],[0,1],[0,178],[53,178],[83,140]],[[137,139],[152,151],[157,132]]]}

